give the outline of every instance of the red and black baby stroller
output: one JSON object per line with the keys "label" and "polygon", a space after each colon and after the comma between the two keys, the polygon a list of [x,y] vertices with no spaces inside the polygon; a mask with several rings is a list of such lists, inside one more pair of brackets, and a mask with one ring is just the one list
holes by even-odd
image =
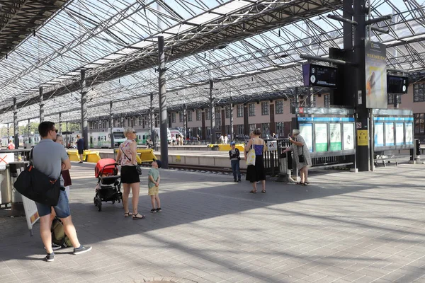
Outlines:
{"label": "red and black baby stroller", "polygon": [[98,178],[96,185],[96,195],[94,196],[94,205],[100,212],[102,210],[102,202],[115,200],[121,202],[123,193],[120,190],[120,176],[118,175],[118,164],[112,158],[104,158],[96,163],[94,175]]}

